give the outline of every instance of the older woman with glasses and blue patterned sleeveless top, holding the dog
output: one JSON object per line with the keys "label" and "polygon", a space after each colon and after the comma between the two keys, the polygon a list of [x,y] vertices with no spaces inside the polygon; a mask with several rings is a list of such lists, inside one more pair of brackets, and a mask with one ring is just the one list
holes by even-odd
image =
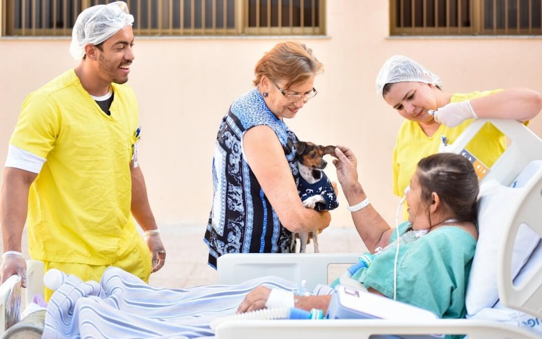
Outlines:
{"label": "older woman with glasses and blue patterned sleeveless top, holding the dog", "polygon": [[284,119],[312,99],[322,64],[298,42],[283,42],[256,64],[255,88],[231,105],[215,144],[214,197],[205,232],[209,265],[224,253],[285,253],[292,232],[325,229],[328,212],[301,205],[297,141]]}

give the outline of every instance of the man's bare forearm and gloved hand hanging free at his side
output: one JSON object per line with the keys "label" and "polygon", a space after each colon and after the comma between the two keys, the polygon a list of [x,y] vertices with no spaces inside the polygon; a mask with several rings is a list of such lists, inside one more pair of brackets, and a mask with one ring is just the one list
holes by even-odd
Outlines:
{"label": "man's bare forearm and gloved hand hanging free at his side", "polygon": [[145,242],[151,252],[152,273],[154,273],[164,266],[166,251],[162,240],[160,240],[160,232],[149,205],[147,187],[145,186],[145,178],[143,172],[141,172],[141,167],[134,167],[132,161],[130,163],[130,172],[132,174],[132,215],[145,232]]}

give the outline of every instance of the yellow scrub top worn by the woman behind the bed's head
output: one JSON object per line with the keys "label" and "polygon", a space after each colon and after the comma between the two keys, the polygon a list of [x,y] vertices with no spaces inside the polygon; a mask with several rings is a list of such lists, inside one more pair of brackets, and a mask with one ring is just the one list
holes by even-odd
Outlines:
{"label": "yellow scrub top worn by the woman behind the bed's head", "polygon": [[[502,89],[488,90],[485,92],[472,92],[467,94],[456,93],[451,96],[450,102],[476,99],[478,97],[500,92]],[[433,136],[425,134],[420,123],[405,120],[399,132],[393,148],[393,194],[402,197],[406,186],[410,184],[410,178],[416,172],[418,162],[431,154],[438,153],[441,145],[441,136],[448,138],[448,143],[453,144],[457,137],[472,123],[472,119],[464,121],[461,125],[450,128],[440,125]],[[479,133],[469,142],[467,151],[475,154],[483,165],[491,167],[506,149],[506,136],[491,124],[483,126]],[[408,219],[406,204],[403,216]]]}

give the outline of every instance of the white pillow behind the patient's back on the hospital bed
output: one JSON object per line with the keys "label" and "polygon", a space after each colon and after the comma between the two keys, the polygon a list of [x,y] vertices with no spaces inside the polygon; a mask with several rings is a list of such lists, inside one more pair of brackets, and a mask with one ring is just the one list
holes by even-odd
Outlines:
{"label": "white pillow behind the patient's back on the hospital bed", "polygon": [[[505,227],[502,221],[510,212],[509,206],[515,204],[524,190],[525,188],[502,186],[494,180],[480,186],[478,244],[470,269],[465,300],[469,316],[483,308],[493,307],[499,300],[496,260]],[[520,225],[512,254],[512,278],[518,275],[539,240],[538,233],[524,224]]]}

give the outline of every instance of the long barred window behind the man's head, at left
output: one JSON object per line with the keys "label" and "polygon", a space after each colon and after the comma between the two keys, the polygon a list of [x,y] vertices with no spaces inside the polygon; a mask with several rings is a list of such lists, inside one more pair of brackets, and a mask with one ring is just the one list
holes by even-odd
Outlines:
{"label": "long barred window behind the man's head, at left", "polygon": [[[79,13],[114,0],[4,0],[2,35],[69,36]],[[323,35],[325,0],[124,0],[135,35]]]}

